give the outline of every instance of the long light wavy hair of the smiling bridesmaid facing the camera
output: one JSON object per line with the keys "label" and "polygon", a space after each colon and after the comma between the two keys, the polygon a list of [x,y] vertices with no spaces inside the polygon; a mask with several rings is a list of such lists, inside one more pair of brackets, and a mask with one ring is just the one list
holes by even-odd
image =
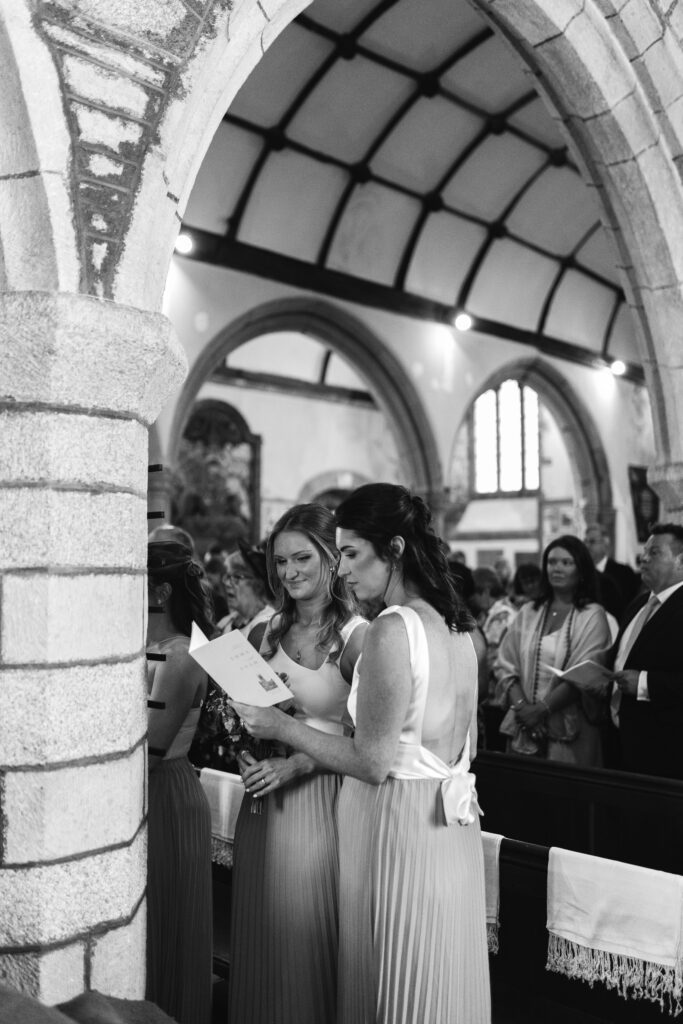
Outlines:
{"label": "long light wavy hair of the smiling bridesmaid facing the camera", "polygon": [[321,556],[321,587],[326,594],[323,617],[317,631],[315,647],[328,651],[331,662],[341,654],[344,642],[342,627],[351,615],[356,613],[356,605],[343,580],[337,577],[339,551],[335,544],[335,517],[325,505],[310,503],[295,505],[278,520],[272,527],[265,549],[270,590],[275,595],[275,616],[268,631],[270,650],[266,657],[272,657],[278,644],[297,621],[297,605],[294,598],[285,589],[278,575],[275,566],[274,545],[281,534],[303,534],[311,542]]}

